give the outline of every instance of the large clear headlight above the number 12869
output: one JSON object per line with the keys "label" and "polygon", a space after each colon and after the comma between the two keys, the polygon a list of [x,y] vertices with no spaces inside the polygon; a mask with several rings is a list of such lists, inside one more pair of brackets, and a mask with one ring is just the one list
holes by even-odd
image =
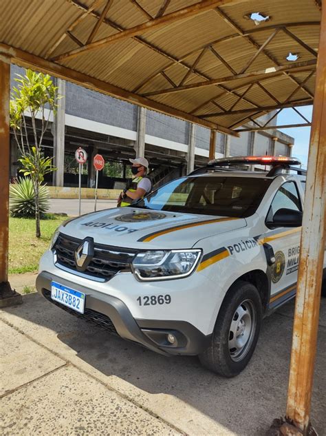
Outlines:
{"label": "large clear headlight above the number 12869", "polygon": [[202,250],[157,250],[138,253],[131,265],[138,280],[169,280],[189,276]]}

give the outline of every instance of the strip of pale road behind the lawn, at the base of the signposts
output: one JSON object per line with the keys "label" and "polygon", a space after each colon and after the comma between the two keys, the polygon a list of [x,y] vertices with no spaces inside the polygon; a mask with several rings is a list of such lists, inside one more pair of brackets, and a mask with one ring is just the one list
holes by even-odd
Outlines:
{"label": "strip of pale road behind the lawn, at the base of the signposts", "polygon": [[[116,200],[98,200],[96,209],[111,209],[116,207]],[[78,215],[79,202],[78,199],[61,199],[61,198],[51,198],[50,199],[50,212],[52,213],[65,213],[68,216]],[[81,201],[81,213],[88,214],[94,211],[94,200],[82,200]]]}

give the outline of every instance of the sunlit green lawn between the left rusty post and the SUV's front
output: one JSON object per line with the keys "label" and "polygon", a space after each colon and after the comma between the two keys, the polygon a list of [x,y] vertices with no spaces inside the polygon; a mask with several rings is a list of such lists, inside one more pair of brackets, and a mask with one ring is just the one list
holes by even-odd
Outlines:
{"label": "sunlit green lawn between the left rusty post and the SUV's front", "polygon": [[54,230],[67,217],[41,220],[41,238],[35,236],[35,220],[9,218],[9,273],[37,271],[39,260],[50,244]]}

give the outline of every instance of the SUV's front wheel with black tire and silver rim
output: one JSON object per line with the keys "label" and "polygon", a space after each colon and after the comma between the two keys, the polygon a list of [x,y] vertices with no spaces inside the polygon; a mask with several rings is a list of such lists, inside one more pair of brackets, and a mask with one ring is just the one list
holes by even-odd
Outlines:
{"label": "SUV's front wheel with black tire and silver rim", "polygon": [[[210,346],[199,355],[202,365],[224,377],[241,373],[256,348],[262,312],[261,297],[253,284],[233,284],[219,309]],[[235,340],[234,332],[239,331]]]}

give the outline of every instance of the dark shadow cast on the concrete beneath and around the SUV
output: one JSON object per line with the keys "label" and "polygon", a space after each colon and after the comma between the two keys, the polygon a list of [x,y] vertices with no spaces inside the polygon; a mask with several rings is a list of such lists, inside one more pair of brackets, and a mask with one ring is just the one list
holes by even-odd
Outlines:
{"label": "dark shadow cast on the concrete beneath and around the SUV", "polygon": [[[164,414],[165,405],[166,411],[171,407],[171,396],[182,400],[181,406],[178,404],[180,411],[175,413],[182,414],[179,428],[186,433],[199,434],[195,433],[195,428],[198,427],[194,427],[193,432],[189,431],[192,421],[197,419],[196,411],[208,417],[213,427],[213,422],[218,422],[241,436],[263,435],[272,419],[285,413],[294,302],[288,303],[278,313],[264,320],[252,361],[241,375],[233,379],[224,379],[206,371],[197,357],[164,357],[143,349],[138,344],[109,335],[100,327],[54,307],[37,294],[27,295],[24,302],[21,307],[8,309],[8,314],[15,315],[16,320],[20,318],[34,323],[28,324],[28,332],[25,333],[51,349],[54,348],[59,354],[62,346],[65,349],[68,346],[79,359],[96,368],[102,375],[119,377],[144,391],[145,397],[146,393],[154,395],[150,399],[151,395],[143,399],[146,407],[150,408],[151,403],[155,403],[155,395],[165,394],[163,402],[160,397],[160,410]],[[312,422],[319,435],[326,435],[325,318],[324,299],[312,401]],[[20,325],[19,321],[15,324]],[[37,326],[50,329],[52,336],[55,333],[56,342],[51,342],[45,335],[38,337]],[[111,384],[110,380],[108,378],[108,384]],[[113,387],[120,389],[118,382],[113,382]],[[129,395],[125,387],[122,391]],[[133,399],[143,396],[140,391],[133,391]],[[164,419],[167,419],[166,416]],[[175,417],[173,419],[173,424],[177,426]],[[182,422],[187,423],[186,428]],[[209,423],[206,426],[210,428]]]}

